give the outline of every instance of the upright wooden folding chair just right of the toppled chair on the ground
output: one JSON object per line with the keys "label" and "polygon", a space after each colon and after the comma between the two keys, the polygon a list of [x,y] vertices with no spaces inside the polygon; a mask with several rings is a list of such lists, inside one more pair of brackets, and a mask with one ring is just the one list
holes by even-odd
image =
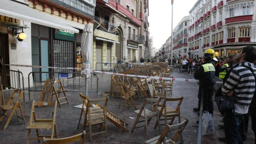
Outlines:
{"label": "upright wooden folding chair just right of the toppled chair on the ground", "polygon": [[[134,125],[133,125],[133,127],[132,127],[132,129],[131,129],[131,132],[133,132],[134,129],[136,129],[136,128],[144,127],[144,126],[145,126],[146,136],[147,136],[147,138],[148,138],[147,126],[149,125],[150,120],[151,120],[153,117],[157,117],[157,122],[159,122],[159,119],[158,119],[159,111],[158,111],[158,109],[157,109],[157,104],[159,103],[159,101],[160,101],[160,97],[158,97],[158,98],[153,98],[153,99],[147,99],[147,98],[146,98],[145,101],[144,101],[144,103],[143,103],[142,106],[141,106],[141,109],[134,111],[134,113],[137,115],[137,117],[136,117],[136,120],[135,120],[135,122],[134,122]],[[152,110],[145,108],[145,106],[146,106],[147,103],[151,103],[151,104],[154,105],[154,107],[153,107]],[[138,121],[139,118],[143,118],[144,120]],[[136,127],[137,123],[140,123],[140,122],[145,122],[145,125]],[[160,127],[159,127],[159,131],[160,131]]]}

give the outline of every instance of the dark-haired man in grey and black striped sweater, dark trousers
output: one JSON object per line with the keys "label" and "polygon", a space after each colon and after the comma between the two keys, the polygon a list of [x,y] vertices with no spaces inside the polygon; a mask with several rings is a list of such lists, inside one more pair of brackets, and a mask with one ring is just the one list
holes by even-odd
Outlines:
{"label": "dark-haired man in grey and black striped sweater, dark trousers", "polygon": [[234,111],[224,113],[224,130],[228,144],[242,144],[239,134],[239,125],[248,113],[251,100],[255,92],[256,66],[252,63],[256,59],[256,48],[252,46],[243,47],[236,56],[239,66],[235,67],[222,87],[222,94],[234,97]]}

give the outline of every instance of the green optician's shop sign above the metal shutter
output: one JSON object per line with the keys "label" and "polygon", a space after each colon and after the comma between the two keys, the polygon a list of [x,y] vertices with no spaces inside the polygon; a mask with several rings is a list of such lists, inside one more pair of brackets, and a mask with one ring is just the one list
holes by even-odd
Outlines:
{"label": "green optician's shop sign above the metal shutter", "polygon": [[54,29],[54,38],[59,40],[75,41],[75,33],[61,29]]}

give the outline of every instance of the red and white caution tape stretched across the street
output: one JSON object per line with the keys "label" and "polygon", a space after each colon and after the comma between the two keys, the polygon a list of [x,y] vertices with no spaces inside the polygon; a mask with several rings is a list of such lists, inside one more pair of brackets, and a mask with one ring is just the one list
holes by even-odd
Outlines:
{"label": "red and white caution tape stretched across the street", "polygon": [[[7,64],[5,64],[7,65]],[[16,64],[9,64],[10,66],[16,67],[33,67],[33,68],[55,68],[55,69],[72,69],[72,70],[83,70],[83,68],[79,67],[48,67],[48,66],[38,66],[38,65],[16,65]],[[90,70],[91,72],[102,73],[102,74],[114,74],[120,76],[129,76],[129,77],[140,77],[146,79],[164,79],[164,80],[173,80],[173,81],[189,81],[189,82],[198,82],[199,80],[196,79],[180,79],[180,78],[170,78],[170,77],[153,77],[153,76],[143,76],[143,75],[134,75],[134,74],[120,74],[115,72],[105,72],[105,71],[98,71],[98,70]],[[215,81],[215,83],[223,83],[220,81]]]}

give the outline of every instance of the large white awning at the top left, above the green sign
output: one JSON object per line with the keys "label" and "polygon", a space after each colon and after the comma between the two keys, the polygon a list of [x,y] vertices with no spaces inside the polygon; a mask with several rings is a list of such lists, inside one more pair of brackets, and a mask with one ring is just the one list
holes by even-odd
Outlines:
{"label": "large white awning at the top left, above the green sign", "polygon": [[10,0],[1,0],[1,3],[2,4],[0,5],[0,15],[24,20],[27,22],[32,22],[35,24],[49,26],[56,29],[79,33],[79,30],[68,26],[63,22],[59,22],[56,17],[47,15],[38,10],[34,10],[33,8],[30,8],[29,6],[26,6],[22,3],[17,3]]}

